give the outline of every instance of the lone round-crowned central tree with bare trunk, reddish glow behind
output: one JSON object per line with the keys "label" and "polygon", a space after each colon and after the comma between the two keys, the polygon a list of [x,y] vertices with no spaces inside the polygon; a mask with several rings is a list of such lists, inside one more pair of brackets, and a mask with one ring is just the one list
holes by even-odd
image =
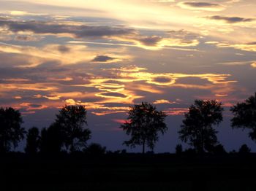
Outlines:
{"label": "lone round-crowned central tree with bare trunk, reddish glow behind", "polygon": [[164,122],[166,114],[157,111],[155,106],[146,102],[130,107],[128,114],[127,122],[120,128],[130,135],[131,139],[124,141],[124,144],[129,147],[142,145],[143,153],[145,146],[153,150],[159,140],[159,133],[164,134],[167,130]]}

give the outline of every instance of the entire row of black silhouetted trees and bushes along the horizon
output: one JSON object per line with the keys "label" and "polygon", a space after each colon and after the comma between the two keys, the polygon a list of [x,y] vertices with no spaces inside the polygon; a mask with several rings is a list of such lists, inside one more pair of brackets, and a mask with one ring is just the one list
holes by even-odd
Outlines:
{"label": "entire row of black silhouetted trees and bushes along the horizon", "polygon": [[[183,151],[181,144],[176,146],[176,154],[182,153],[215,153],[224,154],[225,149],[217,140],[218,131],[214,128],[223,120],[222,103],[215,100],[195,100],[184,114],[179,139],[192,146],[192,149]],[[244,102],[230,108],[233,113],[231,125],[233,128],[248,128],[249,137],[256,140],[256,93]],[[0,108],[0,153],[10,152],[18,147],[18,143],[26,137],[25,152],[35,155],[38,152],[45,155],[60,152],[86,152],[88,154],[104,154],[106,148],[100,144],[90,144],[91,130],[86,128],[85,106],[64,106],[56,114],[56,119],[48,128],[39,130],[36,127],[26,131],[21,127],[21,114],[13,108]],[[165,112],[157,111],[156,106],[143,102],[131,106],[127,121],[120,126],[130,136],[124,144],[129,147],[142,146],[143,153],[146,147],[154,150],[159,141],[159,134],[167,131]],[[125,151],[123,151],[125,152]],[[242,145],[239,153],[249,153],[246,144]]]}

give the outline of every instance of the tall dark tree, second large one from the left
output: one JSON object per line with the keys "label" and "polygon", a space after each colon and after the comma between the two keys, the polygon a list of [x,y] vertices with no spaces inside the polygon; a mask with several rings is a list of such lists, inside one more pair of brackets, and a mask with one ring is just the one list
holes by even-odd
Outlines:
{"label": "tall dark tree, second large one from the left", "polygon": [[86,141],[91,139],[91,131],[84,128],[87,125],[84,106],[64,106],[56,115],[54,123],[61,128],[64,146],[69,152],[83,149]]}

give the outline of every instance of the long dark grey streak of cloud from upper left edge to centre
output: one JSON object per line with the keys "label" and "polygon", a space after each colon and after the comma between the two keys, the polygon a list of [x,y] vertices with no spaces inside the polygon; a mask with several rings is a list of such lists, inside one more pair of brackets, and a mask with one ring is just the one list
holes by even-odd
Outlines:
{"label": "long dark grey streak of cloud from upper left edge to centre", "polygon": [[45,21],[16,21],[0,20],[0,26],[9,28],[10,31],[18,33],[31,31],[35,34],[70,34],[76,38],[123,36],[135,34],[135,30],[124,26],[86,26],[69,25],[63,23],[48,23]]}

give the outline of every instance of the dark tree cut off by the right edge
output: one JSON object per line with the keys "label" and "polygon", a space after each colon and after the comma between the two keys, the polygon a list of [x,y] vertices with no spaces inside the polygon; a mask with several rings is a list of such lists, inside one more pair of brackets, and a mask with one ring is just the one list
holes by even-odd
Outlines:
{"label": "dark tree cut off by the right edge", "polygon": [[231,119],[233,128],[248,128],[249,137],[256,141],[256,93],[244,102],[231,107],[234,117]]}

